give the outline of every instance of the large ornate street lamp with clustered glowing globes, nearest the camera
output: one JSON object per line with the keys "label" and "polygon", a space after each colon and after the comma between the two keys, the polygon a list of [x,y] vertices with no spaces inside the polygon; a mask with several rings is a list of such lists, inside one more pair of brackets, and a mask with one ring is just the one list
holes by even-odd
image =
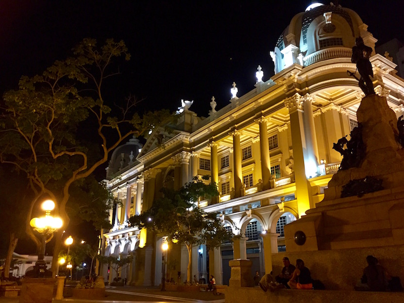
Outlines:
{"label": "large ornate street lamp with clustered glowing globes, nearest the camera", "polygon": [[41,205],[45,211],[45,216],[40,218],[32,218],[29,225],[42,235],[38,252],[38,261],[35,264],[35,277],[43,278],[45,276],[46,262],[43,260],[45,256],[46,238],[56,230],[62,227],[63,221],[59,217],[52,217],[51,211],[55,208],[55,202],[46,200]]}

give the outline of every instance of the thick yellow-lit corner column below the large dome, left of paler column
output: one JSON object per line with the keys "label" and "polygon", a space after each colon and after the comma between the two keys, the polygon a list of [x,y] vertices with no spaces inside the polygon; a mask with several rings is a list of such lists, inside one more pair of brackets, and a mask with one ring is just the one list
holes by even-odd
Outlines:
{"label": "thick yellow-lit corner column below the large dome, left of paler column", "polygon": [[302,97],[295,93],[292,97],[284,100],[289,109],[290,130],[293,145],[294,178],[296,183],[296,199],[299,218],[306,214],[312,206],[311,185],[307,180],[306,171],[306,136],[302,105]]}

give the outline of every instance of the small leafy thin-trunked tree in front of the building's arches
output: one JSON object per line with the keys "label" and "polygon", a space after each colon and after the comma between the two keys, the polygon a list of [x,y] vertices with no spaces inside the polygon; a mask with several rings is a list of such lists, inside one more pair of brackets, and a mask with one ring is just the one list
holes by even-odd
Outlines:
{"label": "small leafy thin-trunked tree in front of the building's arches", "polygon": [[194,245],[206,243],[209,247],[218,247],[232,237],[232,233],[223,227],[218,213],[206,213],[196,206],[199,197],[211,198],[219,194],[216,184],[207,185],[204,180],[209,180],[209,176],[194,177],[193,182],[186,183],[179,190],[163,188],[163,196],[156,199],[148,211],[129,219],[133,225],[186,245],[187,281],[191,281]]}

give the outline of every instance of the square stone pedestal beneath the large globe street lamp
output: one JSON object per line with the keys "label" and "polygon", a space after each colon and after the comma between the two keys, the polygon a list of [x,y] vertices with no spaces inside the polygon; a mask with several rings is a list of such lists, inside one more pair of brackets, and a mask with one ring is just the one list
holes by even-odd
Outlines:
{"label": "square stone pedestal beneath the large globe street lamp", "polygon": [[20,303],[52,303],[56,279],[24,278],[21,283]]}

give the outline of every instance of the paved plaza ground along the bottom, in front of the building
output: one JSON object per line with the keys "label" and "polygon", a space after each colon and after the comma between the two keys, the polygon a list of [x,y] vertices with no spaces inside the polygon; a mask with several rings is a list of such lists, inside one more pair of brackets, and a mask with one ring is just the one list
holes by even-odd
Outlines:
{"label": "paved plaza ground along the bottom, in front of the building", "polygon": [[[211,292],[177,292],[160,291],[157,287],[110,287],[106,289],[106,297],[96,300],[82,300],[66,297],[63,300],[53,300],[54,303],[62,302],[197,302],[197,303],[224,303],[224,294],[214,295]],[[0,297],[0,303],[19,303],[19,297]]]}

